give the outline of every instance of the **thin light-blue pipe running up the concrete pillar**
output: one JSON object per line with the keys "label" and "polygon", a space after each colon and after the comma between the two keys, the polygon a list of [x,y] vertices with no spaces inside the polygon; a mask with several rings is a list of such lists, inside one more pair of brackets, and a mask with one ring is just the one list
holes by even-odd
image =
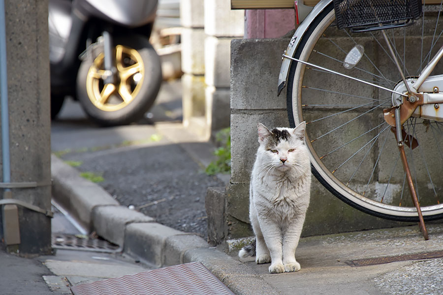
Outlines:
{"label": "thin light-blue pipe running up the concrete pillar", "polygon": [[0,95],[3,182],[10,182],[11,163],[9,157],[8,76],[6,66],[6,18],[4,0],[0,0]]}

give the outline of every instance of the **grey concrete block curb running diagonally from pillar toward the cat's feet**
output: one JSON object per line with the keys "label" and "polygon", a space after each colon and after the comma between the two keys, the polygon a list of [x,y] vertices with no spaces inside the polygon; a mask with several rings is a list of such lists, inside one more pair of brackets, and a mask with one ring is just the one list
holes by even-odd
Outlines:
{"label": "grey concrete block curb running diagonally from pillar toward the cat's feet", "polygon": [[128,255],[154,267],[201,262],[237,295],[280,294],[251,267],[211,247],[200,236],[120,206],[103,188],[80,177],[54,155],[51,174],[53,198],[87,229],[117,243]]}

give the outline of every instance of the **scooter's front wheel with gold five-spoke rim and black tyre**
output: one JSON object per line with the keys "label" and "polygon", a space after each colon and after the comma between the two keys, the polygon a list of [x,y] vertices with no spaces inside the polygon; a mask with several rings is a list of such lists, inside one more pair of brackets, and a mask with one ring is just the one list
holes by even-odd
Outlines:
{"label": "scooter's front wheel with gold five-spoke rim and black tyre", "polygon": [[113,83],[105,83],[109,72],[103,52],[83,60],[77,75],[77,97],[86,114],[102,126],[140,119],[154,104],[161,84],[160,59],[146,37],[117,36],[114,43]]}

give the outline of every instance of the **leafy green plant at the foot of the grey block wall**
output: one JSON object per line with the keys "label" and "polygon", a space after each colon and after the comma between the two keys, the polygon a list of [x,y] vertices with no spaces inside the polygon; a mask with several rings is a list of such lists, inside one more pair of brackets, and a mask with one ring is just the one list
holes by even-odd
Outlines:
{"label": "leafy green plant at the foot of the grey block wall", "polygon": [[231,128],[221,129],[216,133],[216,142],[220,147],[214,151],[216,159],[206,167],[207,175],[231,173]]}

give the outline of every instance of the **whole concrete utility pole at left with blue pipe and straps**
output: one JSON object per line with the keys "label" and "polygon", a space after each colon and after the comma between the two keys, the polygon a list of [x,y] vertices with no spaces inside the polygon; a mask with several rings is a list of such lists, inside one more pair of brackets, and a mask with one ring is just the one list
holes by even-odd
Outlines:
{"label": "whole concrete utility pole at left with blue pipe and straps", "polygon": [[48,0],[0,0],[0,237],[8,252],[51,249]]}

